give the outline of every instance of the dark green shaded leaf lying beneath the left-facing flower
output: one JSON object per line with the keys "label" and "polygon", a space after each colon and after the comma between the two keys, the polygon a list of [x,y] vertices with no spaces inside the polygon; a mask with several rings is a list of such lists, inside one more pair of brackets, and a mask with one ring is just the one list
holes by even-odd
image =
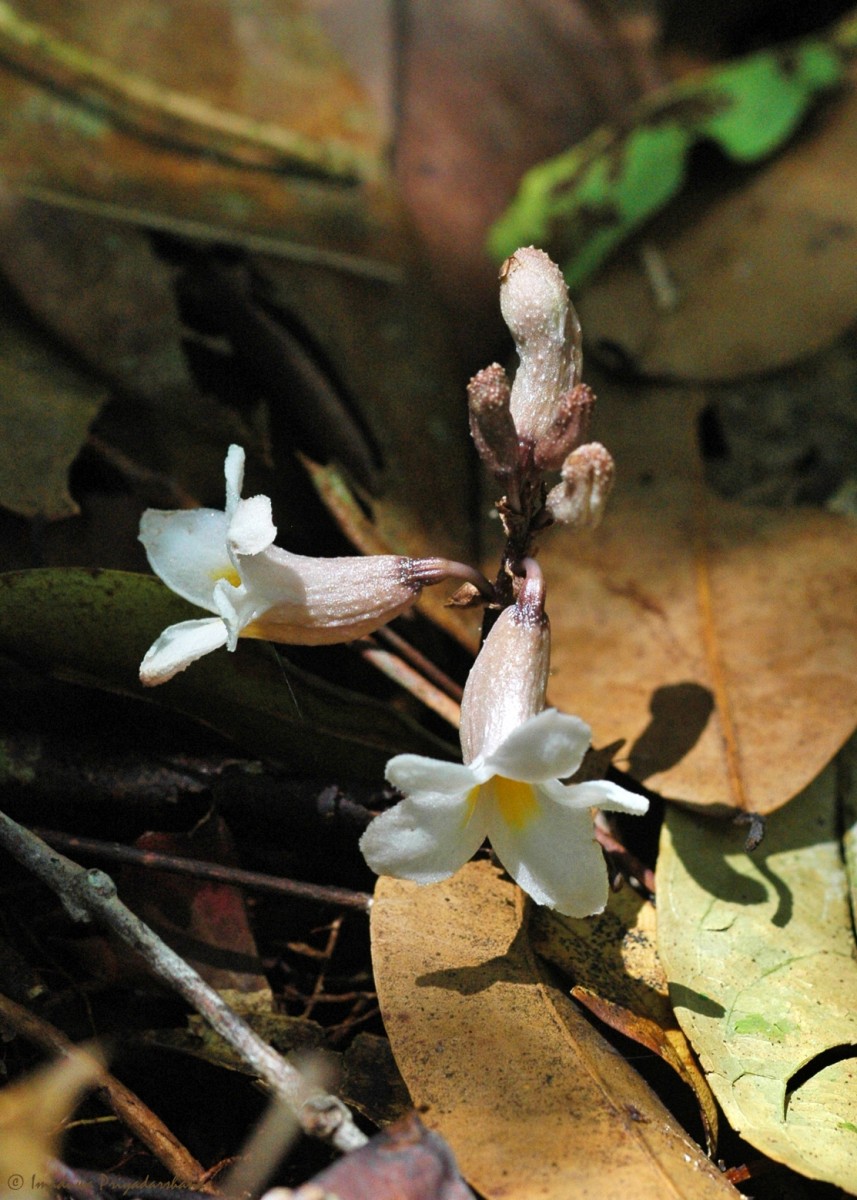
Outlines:
{"label": "dark green shaded leaf lying beneath the left-facing flower", "polygon": [[198,617],[158,580],[85,569],[0,575],[0,653],[58,678],[197,718],[294,773],[380,780],[391,754],[450,748],[391,707],[299,671],[259,642],[217,652],[156,689],[137,678],[157,635]]}

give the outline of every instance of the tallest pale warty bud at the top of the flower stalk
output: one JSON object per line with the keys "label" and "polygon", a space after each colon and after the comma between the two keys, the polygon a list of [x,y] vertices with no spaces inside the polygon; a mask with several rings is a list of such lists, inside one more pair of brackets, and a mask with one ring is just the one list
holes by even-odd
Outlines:
{"label": "tallest pale warty bud at the top of the flower stalk", "polygon": [[516,250],[501,268],[501,310],[521,360],[510,408],[519,437],[538,443],[581,370],[581,331],[562,271],[541,250]]}

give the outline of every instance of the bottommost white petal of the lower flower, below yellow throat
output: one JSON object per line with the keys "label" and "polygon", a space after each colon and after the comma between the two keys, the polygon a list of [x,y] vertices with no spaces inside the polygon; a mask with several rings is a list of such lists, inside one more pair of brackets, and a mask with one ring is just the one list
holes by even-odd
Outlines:
{"label": "bottommost white petal of the lower flower, below yellow throat", "polygon": [[489,838],[503,866],[537,904],[568,917],[591,917],[607,902],[607,870],[588,811],[556,804],[535,788],[538,814],[513,828],[499,810],[489,817]]}

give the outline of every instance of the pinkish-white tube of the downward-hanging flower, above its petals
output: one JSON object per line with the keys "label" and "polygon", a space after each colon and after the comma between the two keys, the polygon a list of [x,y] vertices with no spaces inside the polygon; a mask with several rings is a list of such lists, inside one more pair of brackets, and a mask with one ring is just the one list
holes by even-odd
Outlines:
{"label": "pinkish-white tube of the downward-hanging flower, above its petals", "polygon": [[471,668],[461,698],[461,752],[490,755],[513,730],[545,707],[551,626],[545,584],[531,563],[516,604],[504,608]]}

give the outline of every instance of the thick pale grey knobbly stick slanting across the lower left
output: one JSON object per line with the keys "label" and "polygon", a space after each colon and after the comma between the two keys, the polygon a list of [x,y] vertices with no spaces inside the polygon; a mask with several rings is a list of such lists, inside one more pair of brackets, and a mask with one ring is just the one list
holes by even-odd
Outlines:
{"label": "thick pale grey knobbly stick slanting across the lower left", "polygon": [[178,991],[294,1108],[305,1133],[324,1138],[340,1151],[366,1144],[368,1139],[354,1124],[342,1100],[312,1088],[299,1070],[263,1042],[192,966],[121,902],[108,875],[72,863],[5,812],[0,812],[0,845],[58,894],[72,919],[97,919],[134,949],[160,979]]}

